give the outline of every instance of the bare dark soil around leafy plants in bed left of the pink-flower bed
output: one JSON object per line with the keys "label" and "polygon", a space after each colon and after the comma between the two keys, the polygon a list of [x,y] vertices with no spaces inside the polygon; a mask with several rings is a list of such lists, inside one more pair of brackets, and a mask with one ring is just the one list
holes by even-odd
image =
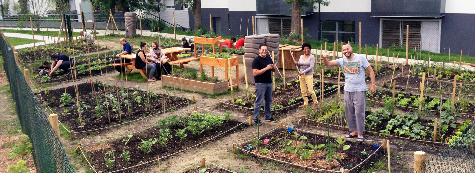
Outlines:
{"label": "bare dark soil around leafy plants in bed left of the pink-flower bed", "polygon": [[[205,132],[203,132],[201,135],[198,135],[198,136],[192,135],[190,130],[187,129],[185,132],[188,134],[188,136],[186,137],[184,141],[181,141],[180,137],[177,137],[175,133],[175,130],[182,129],[184,128],[183,126],[176,125],[176,126],[169,127],[173,137],[168,140],[166,146],[161,146],[160,144],[155,143],[151,148],[152,151],[148,155],[144,154],[144,152],[141,149],[139,149],[138,146],[142,144],[142,140],[148,140],[151,138],[159,138],[161,136],[160,133],[158,133],[159,130],[161,129],[160,127],[153,127],[141,132],[140,134],[134,134],[127,145],[124,145],[125,143],[122,140],[117,140],[115,142],[104,143],[97,146],[91,146],[89,148],[86,148],[85,150],[88,155],[88,160],[93,162],[96,170],[108,170],[107,172],[109,172],[109,171],[127,168],[136,164],[141,164],[147,161],[155,160],[158,157],[163,157],[166,155],[173,154],[180,150],[186,149],[190,146],[194,146],[203,141],[206,141],[211,137],[215,137],[216,135],[219,135],[225,132],[226,130],[232,127],[235,127],[240,123],[241,122],[237,122],[235,120],[229,120],[222,123],[222,126],[212,127],[212,129],[206,130]],[[247,123],[244,123],[240,127],[236,127],[228,131],[224,135],[235,133],[247,126],[248,126]],[[223,136],[220,136],[220,137],[214,138],[213,140],[217,140],[222,137]],[[193,149],[191,148],[190,150],[193,150]],[[111,169],[106,168],[105,161],[104,161],[104,158],[109,158],[109,155],[106,154],[109,151],[112,151],[115,155],[115,163],[113,164]],[[130,160],[128,161],[130,162],[130,164],[128,164],[127,161],[123,157],[120,156],[123,153],[123,151],[130,152],[128,154],[130,156]],[[160,160],[160,162],[161,163],[166,162],[166,158],[163,160]],[[131,169],[119,171],[118,173],[130,173],[134,171],[139,171],[139,170],[147,168],[147,166],[152,165],[152,164],[156,164],[156,163],[149,163],[149,164],[137,166]]]}

